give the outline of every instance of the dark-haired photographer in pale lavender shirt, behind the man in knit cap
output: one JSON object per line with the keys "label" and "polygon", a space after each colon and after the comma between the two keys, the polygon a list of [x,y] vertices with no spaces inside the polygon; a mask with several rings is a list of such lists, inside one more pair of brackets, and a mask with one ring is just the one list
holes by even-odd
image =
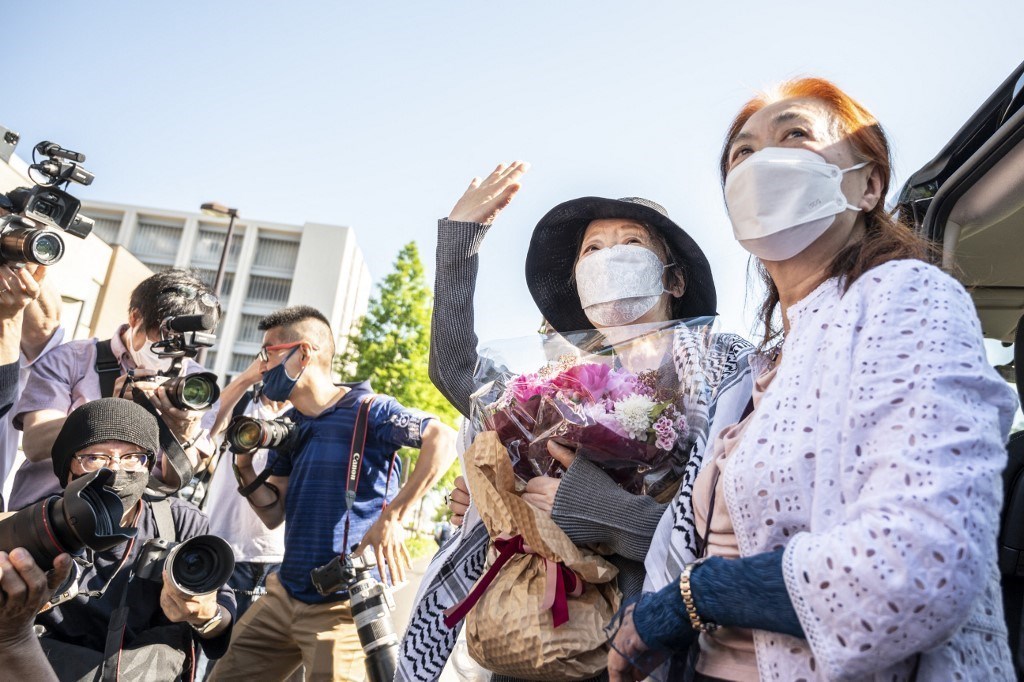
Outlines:
{"label": "dark-haired photographer in pale lavender shirt, behind the man in knit cap", "polygon": [[[60,482],[53,477],[47,460],[67,416],[88,400],[120,396],[125,388],[126,397],[135,390],[148,397],[182,443],[193,467],[202,456],[212,453],[202,438],[204,413],[175,407],[174,396],[162,385],[172,368],[172,358],[154,349],[154,344],[167,335],[165,322],[182,315],[203,315],[212,328],[220,317],[220,303],[191,272],[158,272],[132,291],[128,324],[122,325],[111,339],[71,341],[35,364],[13,420],[14,426],[25,431],[23,447],[29,461],[14,479],[11,509],[22,509],[59,491]],[[183,375],[203,371],[190,358],[181,364]],[[204,449],[202,455],[199,447]],[[181,483],[171,467],[158,463],[157,472],[158,478],[172,486]]]}

